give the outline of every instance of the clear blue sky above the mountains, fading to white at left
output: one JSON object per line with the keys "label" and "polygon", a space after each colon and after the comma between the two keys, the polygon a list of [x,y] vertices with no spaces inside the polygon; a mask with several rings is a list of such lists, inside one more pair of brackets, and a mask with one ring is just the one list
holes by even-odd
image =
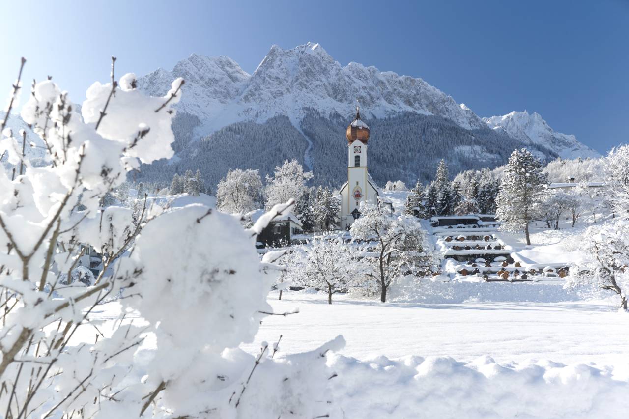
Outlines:
{"label": "clear blue sky above the mountains, fading to white at left", "polygon": [[[629,142],[629,1],[4,1],[0,86],[19,57],[74,101],[192,52],[253,72],[273,44],[422,77],[479,116],[540,113],[601,153]],[[9,17],[10,16],[10,17]],[[0,92],[3,88],[0,87]]]}

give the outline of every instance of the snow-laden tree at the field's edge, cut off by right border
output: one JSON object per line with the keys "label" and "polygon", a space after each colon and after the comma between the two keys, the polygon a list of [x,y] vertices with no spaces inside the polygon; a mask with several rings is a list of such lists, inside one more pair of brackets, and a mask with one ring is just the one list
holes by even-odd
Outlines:
{"label": "snow-laden tree at the field's edge, cut off by right border", "polygon": [[629,291],[629,224],[616,218],[587,229],[581,242],[583,262],[570,269],[566,286],[595,284],[620,296],[627,311]]}

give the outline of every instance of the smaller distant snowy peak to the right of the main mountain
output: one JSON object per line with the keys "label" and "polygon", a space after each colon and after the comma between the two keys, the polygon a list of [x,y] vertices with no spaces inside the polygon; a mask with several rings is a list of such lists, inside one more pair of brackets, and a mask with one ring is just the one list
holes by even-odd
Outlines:
{"label": "smaller distant snowy peak to the right of the main mountain", "polygon": [[503,116],[482,118],[489,128],[504,131],[509,137],[543,145],[562,157],[562,159],[576,159],[577,157],[598,158],[601,155],[577,141],[574,135],[562,134],[550,128],[548,123],[538,113],[513,111]]}

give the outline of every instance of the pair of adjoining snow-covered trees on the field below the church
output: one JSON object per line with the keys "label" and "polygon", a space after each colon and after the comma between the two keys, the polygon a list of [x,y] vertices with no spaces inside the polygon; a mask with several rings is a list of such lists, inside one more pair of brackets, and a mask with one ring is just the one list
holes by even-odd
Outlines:
{"label": "pair of adjoining snow-covered trees on the field below the church", "polygon": [[352,241],[328,233],[286,256],[282,281],[328,293],[361,289],[387,299],[391,284],[402,275],[426,275],[436,259],[415,217],[394,216],[386,208],[364,205],[351,227]]}

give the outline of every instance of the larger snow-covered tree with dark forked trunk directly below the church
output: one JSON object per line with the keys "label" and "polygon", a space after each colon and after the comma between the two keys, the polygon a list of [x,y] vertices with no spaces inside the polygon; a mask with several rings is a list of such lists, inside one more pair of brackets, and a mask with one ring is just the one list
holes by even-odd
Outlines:
{"label": "larger snow-covered tree with dark forked trunk directly below the church", "polygon": [[434,264],[430,247],[417,219],[394,216],[387,208],[363,204],[360,218],[352,224],[352,240],[363,243],[364,274],[374,281],[380,301],[401,274],[426,274]]}

